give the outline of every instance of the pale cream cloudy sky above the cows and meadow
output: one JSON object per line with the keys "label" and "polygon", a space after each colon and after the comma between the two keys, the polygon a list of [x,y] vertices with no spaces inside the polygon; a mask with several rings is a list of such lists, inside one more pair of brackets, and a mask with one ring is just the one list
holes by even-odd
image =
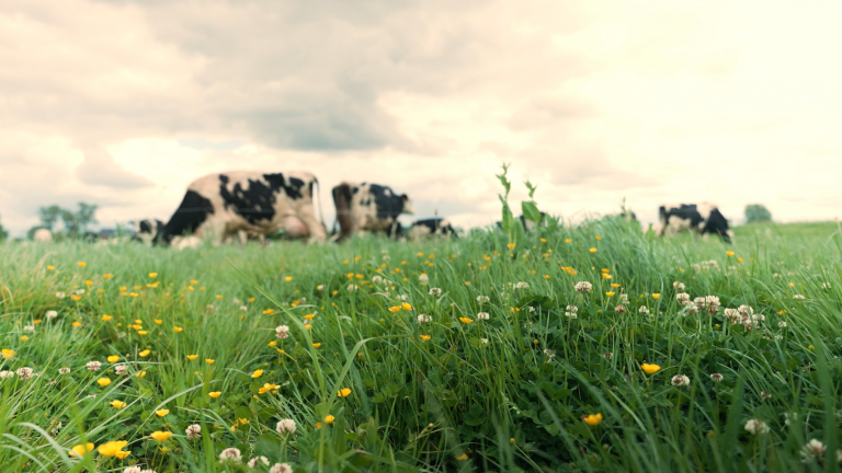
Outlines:
{"label": "pale cream cloudy sky above the cows and meadow", "polygon": [[842,3],[0,0],[0,223],[168,220],[193,180],[309,171],[416,216],[842,214]]}

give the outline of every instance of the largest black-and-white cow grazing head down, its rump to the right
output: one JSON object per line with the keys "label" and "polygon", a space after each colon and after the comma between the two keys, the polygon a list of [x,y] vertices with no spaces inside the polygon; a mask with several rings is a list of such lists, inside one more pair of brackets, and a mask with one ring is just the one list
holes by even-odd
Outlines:
{"label": "largest black-and-white cow grazing head down, its rump to the right", "polygon": [[216,244],[237,235],[265,235],[283,228],[294,236],[323,242],[325,223],[316,219],[314,186],[307,172],[234,171],[193,181],[179,208],[164,226],[160,241],[175,236],[210,236]]}

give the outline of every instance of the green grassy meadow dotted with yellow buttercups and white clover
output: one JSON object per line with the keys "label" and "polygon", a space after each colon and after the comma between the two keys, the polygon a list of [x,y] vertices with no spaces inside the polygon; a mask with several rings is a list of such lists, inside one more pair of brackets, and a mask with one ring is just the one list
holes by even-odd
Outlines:
{"label": "green grassy meadow dotted with yellow buttercups and white clover", "polygon": [[838,231],[5,244],[0,471],[833,471]]}

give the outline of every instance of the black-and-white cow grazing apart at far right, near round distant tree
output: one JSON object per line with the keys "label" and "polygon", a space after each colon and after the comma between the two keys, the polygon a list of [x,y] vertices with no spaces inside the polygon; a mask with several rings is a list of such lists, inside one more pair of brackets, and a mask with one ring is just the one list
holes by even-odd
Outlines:
{"label": "black-and-white cow grazing apart at far right, near round distant tree", "polygon": [[656,236],[671,236],[682,231],[692,231],[705,238],[709,233],[718,234],[726,243],[733,240],[733,231],[728,228],[728,220],[713,204],[662,205],[658,208],[658,220]]}

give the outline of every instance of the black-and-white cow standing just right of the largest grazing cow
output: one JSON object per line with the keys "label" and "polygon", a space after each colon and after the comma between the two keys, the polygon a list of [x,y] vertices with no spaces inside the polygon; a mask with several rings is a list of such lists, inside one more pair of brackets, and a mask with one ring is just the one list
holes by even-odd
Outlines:
{"label": "black-and-white cow standing just right of the largest grazing cow", "polygon": [[340,228],[337,241],[360,231],[400,236],[403,228],[398,216],[414,214],[412,201],[406,194],[398,195],[391,187],[379,184],[343,182],[333,187],[332,194]]}

